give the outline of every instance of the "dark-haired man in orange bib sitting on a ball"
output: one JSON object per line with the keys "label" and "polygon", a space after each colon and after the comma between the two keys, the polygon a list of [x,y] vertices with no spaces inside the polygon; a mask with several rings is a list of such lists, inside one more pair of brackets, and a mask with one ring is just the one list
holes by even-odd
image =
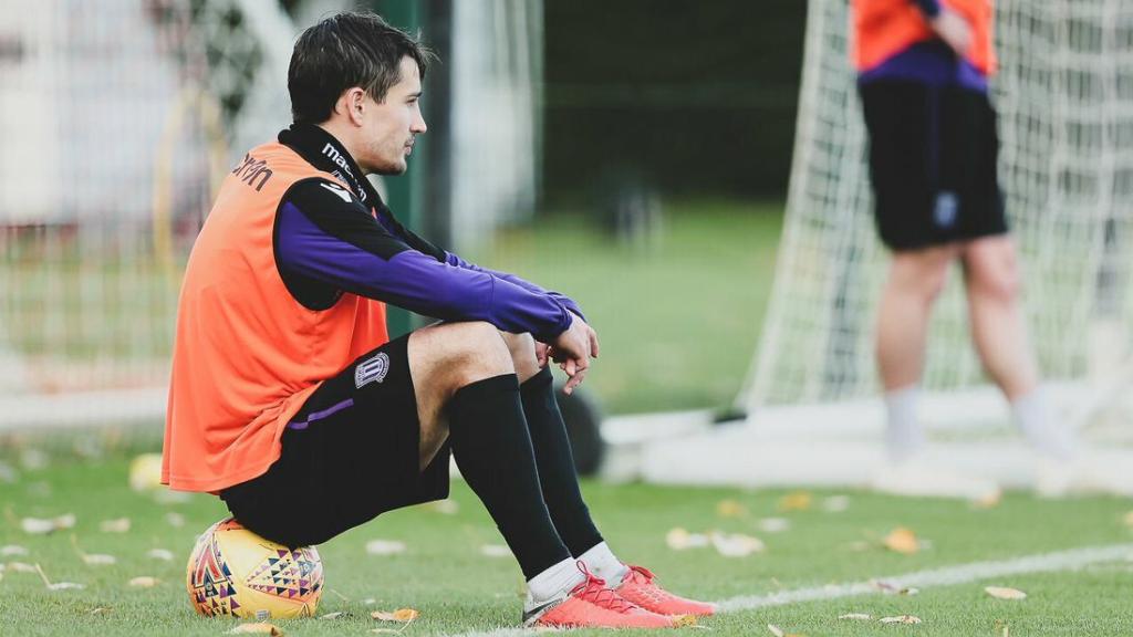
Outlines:
{"label": "dark-haired man in orange bib sitting on a ball", "polygon": [[[402,173],[425,133],[431,56],[375,15],[296,42],[295,124],[236,167],[189,257],[163,482],[318,544],[445,498],[451,450],[527,578],[526,623],[710,614],[615,558],[582,501],[546,368],[571,392],[598,355],[578,304],[409,232],[367,181]],[[390,341],[384,303],[444,323]]]}

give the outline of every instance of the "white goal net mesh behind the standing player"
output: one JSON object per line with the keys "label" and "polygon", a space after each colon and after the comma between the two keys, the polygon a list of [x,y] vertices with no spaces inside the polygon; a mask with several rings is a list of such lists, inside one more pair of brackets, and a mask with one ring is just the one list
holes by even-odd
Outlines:
{"label": "white goal net mesh behind the standing player", "polygon": [[[996,3],[1000,185],[1043,374],[1113,377],[1133,318],[1133,5]],[[849,7],[812,0],[787,215],[748,409],[877,392],[875,314],[886,253],[872,221]],[[962,286],[930,326],[925,385],[985,383]]]}

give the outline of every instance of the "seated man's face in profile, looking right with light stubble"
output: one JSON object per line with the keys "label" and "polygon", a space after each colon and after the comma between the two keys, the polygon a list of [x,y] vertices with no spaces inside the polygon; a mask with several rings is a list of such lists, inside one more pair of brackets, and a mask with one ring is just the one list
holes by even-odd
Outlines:
{"label": "seated man's face in profile, looking right with light stubble", "polygon": [[378,103],[368,95],[364,110],[363,150],[358,165],[365,172],[401,175],[406,158],[412,151],[414,138],[425,133],[420,111],[421,79],[417,62],[401,58],[401,80],[390,87],[385,101]]}

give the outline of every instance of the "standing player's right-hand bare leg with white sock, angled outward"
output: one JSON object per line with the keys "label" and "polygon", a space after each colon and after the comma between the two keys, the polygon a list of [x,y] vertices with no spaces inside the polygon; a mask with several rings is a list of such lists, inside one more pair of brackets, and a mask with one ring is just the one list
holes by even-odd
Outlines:
{"label": "standing player's right-hand bare leg with white sock, angled outward", "polygon": [[976,239],[963,254],[972,340],[1015,421],[1040,452],[1070,459],[1073,432],[1050,417],[1019,298],[1015,246],[1006,235]]}

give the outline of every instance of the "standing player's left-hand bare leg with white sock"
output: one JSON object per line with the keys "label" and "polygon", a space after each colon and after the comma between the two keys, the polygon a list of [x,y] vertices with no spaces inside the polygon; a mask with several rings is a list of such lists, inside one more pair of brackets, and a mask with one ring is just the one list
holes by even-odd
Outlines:
{"label": "standing player's left-hand bare leg with white sock", "polygon": [[886,451],[900,462],[925,443],[917,398],[925,368],[928,324],[944,289],[955,245],[893,254],[877,316],[877,366],[885,388]]}

